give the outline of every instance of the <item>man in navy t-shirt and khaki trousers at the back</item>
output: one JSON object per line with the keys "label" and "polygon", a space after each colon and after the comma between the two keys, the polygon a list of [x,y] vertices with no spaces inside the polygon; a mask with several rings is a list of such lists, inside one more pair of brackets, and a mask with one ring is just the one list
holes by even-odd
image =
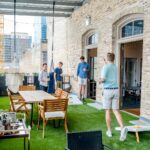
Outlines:
{"label": "man in navy t-shirt and khaki trousers at the back", "polygon": [[62,73],[63,73],[62,66],[63,66],[63,63],[59,62],[58,63],[58,67],[55,68],[55,78],[56,78],[57,88],[61,88],[61,89],[62,89],[62,80],[63,80],[63,77],[62,77]]}

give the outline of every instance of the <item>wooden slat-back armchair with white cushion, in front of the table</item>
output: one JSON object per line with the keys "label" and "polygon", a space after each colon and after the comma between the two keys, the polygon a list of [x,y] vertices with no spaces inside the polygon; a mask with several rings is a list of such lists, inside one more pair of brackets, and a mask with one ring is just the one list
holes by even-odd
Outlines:
{"label": "wooden slat-back armchair with white cushion, in front of the table", "polygon": [[44,100],[43,105],[39,105],[38,129],[40,127],[40,119],[43,120],[43,138],[44,130],[48,120],[64,120],[65,131],[67,128],[67,106],[68,99]]}

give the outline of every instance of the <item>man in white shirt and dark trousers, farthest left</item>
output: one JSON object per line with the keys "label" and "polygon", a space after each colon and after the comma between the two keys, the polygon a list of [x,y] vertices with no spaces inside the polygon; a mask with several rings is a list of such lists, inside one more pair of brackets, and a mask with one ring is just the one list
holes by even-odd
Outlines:
{"label": "man in white shirt and dark trousers, farthest left", "polygon": [[48,72],[47,72],[47,64],[44,63],[42,66],[42,70],[39,73],[39,82],[40,82],[40,89],[47,92],[48,87]]}

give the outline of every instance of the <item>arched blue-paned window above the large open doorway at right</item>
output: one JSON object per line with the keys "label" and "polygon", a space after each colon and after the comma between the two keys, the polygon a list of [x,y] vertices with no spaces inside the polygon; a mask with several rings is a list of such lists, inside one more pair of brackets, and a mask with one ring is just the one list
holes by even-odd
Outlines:
{"label": "arched blue-paned window above the large open doorway at right", "polygon": [[122,27],[121,37],[130,37],[143,33],[143,20],[135,20],[133,22],[129,22],[125,26]]}

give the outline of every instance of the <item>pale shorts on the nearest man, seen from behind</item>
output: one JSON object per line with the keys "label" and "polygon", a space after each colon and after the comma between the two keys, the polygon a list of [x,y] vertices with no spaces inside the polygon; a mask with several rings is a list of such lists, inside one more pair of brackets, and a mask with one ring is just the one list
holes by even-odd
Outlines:
{"label": "pale shorts on the nearest man, seen from behind", "polygon": [[104,109],[119,109],[119,90],[118,89],[104,89]]}

